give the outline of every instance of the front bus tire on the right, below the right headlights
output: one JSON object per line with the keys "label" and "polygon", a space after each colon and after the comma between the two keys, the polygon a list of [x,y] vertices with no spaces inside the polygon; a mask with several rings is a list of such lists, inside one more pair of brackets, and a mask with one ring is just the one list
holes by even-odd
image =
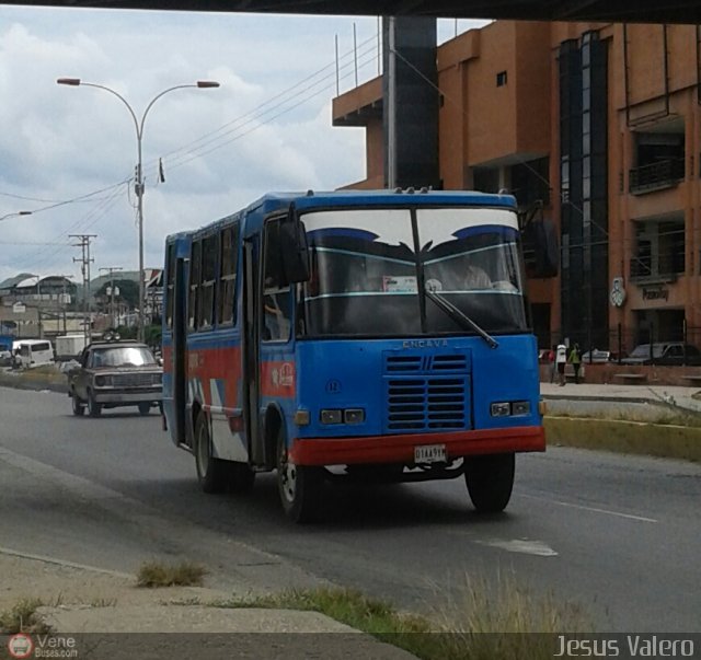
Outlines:
{"label": "front bus tire on the right, below the right headlights", "polygon": [[464,480],[480,513],[498,513],[506,508],[514,488],[514,454],[487,454],[464,460]]}

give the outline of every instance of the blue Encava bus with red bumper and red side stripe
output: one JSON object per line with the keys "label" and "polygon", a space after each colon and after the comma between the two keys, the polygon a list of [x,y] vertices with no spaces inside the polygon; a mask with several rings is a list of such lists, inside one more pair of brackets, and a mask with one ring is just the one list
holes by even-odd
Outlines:
{"label": "blue Encava bus with red bumper and red side stripe", "polygon": [[510,195],[265,195],[166,239],[164,428],[206,493],[276,471],[296,522],[341,477],[502,511],[545,449],[525,287]]}

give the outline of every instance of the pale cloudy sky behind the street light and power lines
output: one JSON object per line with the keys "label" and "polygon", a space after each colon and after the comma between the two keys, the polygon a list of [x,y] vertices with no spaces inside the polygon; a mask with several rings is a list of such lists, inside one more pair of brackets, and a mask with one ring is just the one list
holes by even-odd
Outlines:
{"label": "pale cloudy sky behind the street light and power lines", "polygon": [[[441,20],[439,42],[481,24]],[[168,92],[146,116],[145,267],[160,268],[171,233],[266,192],[365,178],[365,131],[334,128],[331,102],[378,76],[377,33],[370,16],[0,4],[0,281],[32,273],[80,282],[71,234],[94,234],[91,279],[138,268],[134,119],[113,94],[58,78],[111,88],[137,121],[171,86],[220,83]]]}

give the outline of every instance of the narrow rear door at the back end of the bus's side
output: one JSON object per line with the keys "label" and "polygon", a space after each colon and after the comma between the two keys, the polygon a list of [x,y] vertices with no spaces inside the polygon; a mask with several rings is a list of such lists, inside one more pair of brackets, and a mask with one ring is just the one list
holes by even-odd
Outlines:
{"label": "narrow rear door at the back end of the bus's side", "polygon": [[172,366],[172,413],[176,443],[187,442],[186,412],[187,412],[187,278],[185,277],[185,259],[176,257],[172,260],[174,268],[173,289],[170,291],[175,300],[171,303],[173,310],[173,366]]}

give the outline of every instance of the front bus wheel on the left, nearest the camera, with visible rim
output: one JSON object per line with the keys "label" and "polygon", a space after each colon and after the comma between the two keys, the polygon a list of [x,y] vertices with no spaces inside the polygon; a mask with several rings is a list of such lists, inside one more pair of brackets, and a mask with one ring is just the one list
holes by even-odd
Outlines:
{"label": "front bus wheel on the left, nearest the camera, with visible rim", "polygon": [[277,490],[285,514],[297,523],[314,522],[321,510],[323,468],[289,461],[280,429],[277,437]]}

